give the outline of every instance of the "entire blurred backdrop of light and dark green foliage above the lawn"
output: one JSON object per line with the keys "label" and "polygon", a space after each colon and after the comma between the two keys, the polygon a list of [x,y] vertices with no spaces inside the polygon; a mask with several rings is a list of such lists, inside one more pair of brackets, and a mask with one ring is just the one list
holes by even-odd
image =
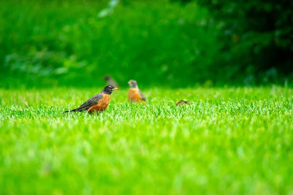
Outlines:
{"label": "entire blurred backdrop of light and dark green foliage above the lawn", "polygon": [[292,0],[0,0],[0,87],[288,84]]}

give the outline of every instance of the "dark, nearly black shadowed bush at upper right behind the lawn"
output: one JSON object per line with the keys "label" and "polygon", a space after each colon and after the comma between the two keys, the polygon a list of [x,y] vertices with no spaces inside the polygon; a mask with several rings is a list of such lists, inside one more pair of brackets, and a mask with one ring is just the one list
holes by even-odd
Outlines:
{"label": "dark, nearly black shadowed bush at upper right behind the lawn", "polygon": [[[189,3],[195,0],[181,0]],[[187,4],[188,4],[187,3]],[[292,78],[292,0],[196,0],[217,26],[221,52],[215,57],[226,78],[246,84]],[[221,79],[221,78],[219,78]]]}

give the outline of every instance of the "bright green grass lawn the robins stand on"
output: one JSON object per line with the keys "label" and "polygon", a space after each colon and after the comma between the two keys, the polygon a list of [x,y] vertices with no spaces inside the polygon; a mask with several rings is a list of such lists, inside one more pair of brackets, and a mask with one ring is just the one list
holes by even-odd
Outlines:
{"label": "bright green grass lawn the robins stand on", "polygon": [[1,195],[293,194],[293,89],[125,89],[60,113],[100,91],[0,90]]}

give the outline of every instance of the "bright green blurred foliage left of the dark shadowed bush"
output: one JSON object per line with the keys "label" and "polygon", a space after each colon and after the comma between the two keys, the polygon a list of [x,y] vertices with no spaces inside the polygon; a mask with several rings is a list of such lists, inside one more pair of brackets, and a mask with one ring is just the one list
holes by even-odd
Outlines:
{"label": "bright green blurred foliage left of the dark shadowed bush", "polygon": [[105,74],[122,86],[129,79],[170,87],[209,79],[217,47],[206,10],[167,0],[111,3],[2,2],[1,85],[103,86]]}

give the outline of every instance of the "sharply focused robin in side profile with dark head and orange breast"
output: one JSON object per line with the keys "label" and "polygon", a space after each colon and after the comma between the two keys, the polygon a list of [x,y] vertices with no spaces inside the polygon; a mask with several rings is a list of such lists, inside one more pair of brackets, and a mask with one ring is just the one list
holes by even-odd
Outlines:
{"label": "sharply focused robin in side profile with dark head and orange breast", "polygon": [[110,102],[110,95],[113,92],[113,90],[117,90],[118,88],[114,87],[113,85],[107,85],[102,90],[101,93],[95,95],[94,97],[88,99],[86,102],[84,102],[80,107],[75,108],[73,110],[64,111],[62,113],[68,113],[68,112],[82,112],[87,111],[88,113],[93,112],[102,112],[104,111],[109,102]]}

